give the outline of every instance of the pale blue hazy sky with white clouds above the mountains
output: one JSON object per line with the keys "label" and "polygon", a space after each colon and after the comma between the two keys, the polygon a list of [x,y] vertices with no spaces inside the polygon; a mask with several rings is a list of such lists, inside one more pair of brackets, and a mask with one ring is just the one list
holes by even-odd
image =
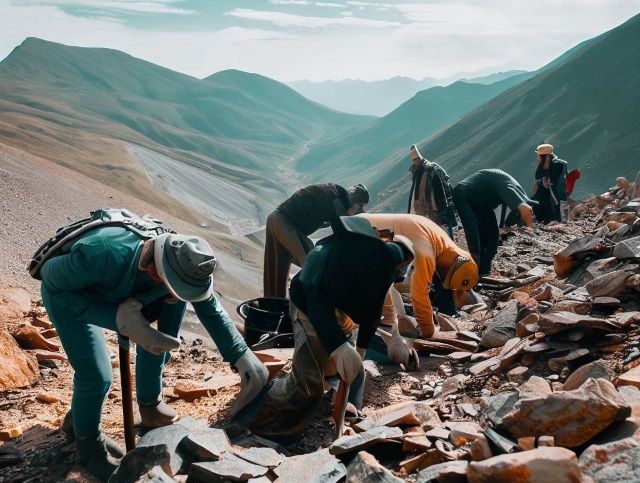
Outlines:
{"label": "pale blue hazy sky with white clouds above the mountains", "polygon": [[446,77],[538,68],[640,0],[0,0],[0,59],[26,37],[110,47],[205,77]]}

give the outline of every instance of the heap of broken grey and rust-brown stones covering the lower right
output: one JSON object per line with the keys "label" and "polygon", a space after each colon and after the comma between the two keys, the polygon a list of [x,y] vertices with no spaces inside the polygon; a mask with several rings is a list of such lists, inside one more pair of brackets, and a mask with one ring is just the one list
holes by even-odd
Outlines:
{"label": "heap of broken grey and rust-brown stones covering the lower right", "polygon": [[[142,436],[110,481],[640,480],[640,174],[618,184],[568,225],[505,230],[479,298],[412,341],[404,400],[370,404],[346,436],[292,456],[187,417]],[[274,375],[290,355],[259,354]],[[391,371],[365,367],[367,390]]]}

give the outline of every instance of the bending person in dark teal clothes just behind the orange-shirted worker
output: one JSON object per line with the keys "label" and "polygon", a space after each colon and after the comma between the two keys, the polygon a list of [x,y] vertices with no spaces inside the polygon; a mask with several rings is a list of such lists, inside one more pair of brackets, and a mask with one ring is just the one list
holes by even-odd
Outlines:
{"label": "bending person in dark teal clothes just behind the orange-shirted worker", "polygon": [[464,179],[454,188],[453,200],[480,276],[491,273],[491,262],[498,252],[500,231],[494,211],[498,206],[508,206],[520,214],[527,227],[533,226],[531,205],[535,202],[520,183],[500,169],[481,169]]}

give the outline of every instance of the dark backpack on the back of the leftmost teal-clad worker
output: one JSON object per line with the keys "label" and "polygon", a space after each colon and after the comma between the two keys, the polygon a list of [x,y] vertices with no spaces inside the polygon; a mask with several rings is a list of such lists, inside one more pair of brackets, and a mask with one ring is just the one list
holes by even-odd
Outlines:
{"label": "dark backpack on the back of the leftmost teal-clad worker", "polygon": [[125,209],[106,208],[92,211],[87,218],[76,220],[69,225],[61,226],[56,234],[49,238],[36,250],[27,267],[29,275],[42,280],[42,265],[52,257],[69,253],[78,238],[85,233],[105,226],[126,228],[135,233],[141,240],[148,240],[163,233],[176,233],[162,225],[162,221],[151,215],[138,216]]}

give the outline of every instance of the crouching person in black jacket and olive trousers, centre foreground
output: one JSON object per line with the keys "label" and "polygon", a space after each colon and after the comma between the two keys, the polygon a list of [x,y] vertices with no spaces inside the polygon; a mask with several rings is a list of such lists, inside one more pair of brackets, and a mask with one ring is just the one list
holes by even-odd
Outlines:
{"label": "crouching person in black jacket and olive trousers, centre foreground", "polygon": [[[408,239],[385,243],[364,218],[340,218],[334,234],[318,242],[291,281],[293,365],[261,402],[256,398],[247,406],[252,415],[245,411],[243,417],[253,433],[279,439],[304,430],[320,406],[327,376],[338,374],[352,384],[349,401],[361,407],[362,357],[389,287],[412,260]],[[351,340],[354,323],[356,341]]]}

